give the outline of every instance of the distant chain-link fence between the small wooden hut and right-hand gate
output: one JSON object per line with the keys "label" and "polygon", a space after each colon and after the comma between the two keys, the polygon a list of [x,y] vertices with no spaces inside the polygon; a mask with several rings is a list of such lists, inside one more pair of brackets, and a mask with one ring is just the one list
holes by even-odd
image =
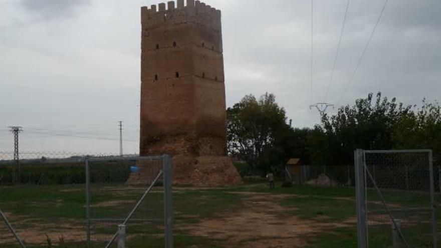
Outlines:
{"label": "distant chain-link fence between the small wooden hut and right-hand gate", "polygon": [[285,181],[312,186],[354,186],[354,166],[286,165]]}

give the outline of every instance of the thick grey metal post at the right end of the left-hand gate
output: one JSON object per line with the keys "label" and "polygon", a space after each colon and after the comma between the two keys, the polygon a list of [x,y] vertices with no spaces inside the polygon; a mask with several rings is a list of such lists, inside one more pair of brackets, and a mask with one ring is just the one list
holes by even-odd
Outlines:
{"label": "thick grey metal post at the right end of the left-hand gate", "polygon": [[173,248],[172,161],[164,155],[164,224],[165,248]]}

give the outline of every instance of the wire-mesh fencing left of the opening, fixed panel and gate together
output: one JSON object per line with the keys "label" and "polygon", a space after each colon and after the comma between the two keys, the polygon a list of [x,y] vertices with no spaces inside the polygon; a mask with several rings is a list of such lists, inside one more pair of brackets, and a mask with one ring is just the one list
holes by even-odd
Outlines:
{"label": "wire-mesh fencing left of the opening, fixed panel and gate together", "polygon": [[[86,160],[90,161],[89,221]],[[0,247],[21,247],[10,227],[27,247],[86,247],[88,240],[90,247],[104,247],[148,189],[151,176],[164,172],[164,161],[163,157],[146,161],[136,155],[68,152],[23,152],[20,160],[14,160],[14,153],[0,152],[0,209],[10,224],[0,217]],[[164,176],[158,177],[127,222],[130,247],[144,247],[146,242],[164,245],[168,209],[164,209],[164,192],[171,193],[171,186],[167,190],[163,186]]]}

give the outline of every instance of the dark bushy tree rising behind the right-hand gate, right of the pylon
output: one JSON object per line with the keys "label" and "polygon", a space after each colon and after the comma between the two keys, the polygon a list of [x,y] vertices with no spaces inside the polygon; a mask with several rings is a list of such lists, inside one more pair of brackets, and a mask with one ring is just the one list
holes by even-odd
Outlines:
{"label": "dark bushy tree rising behind the right-hand gate, right of the pylon", "polygon": [[399,118],[406,116],[411,106],[403,107],[395,98],[390,101],[377,93],[358,99],[353,106],[341,107],[337,114],[323,117],[327,142],[318,149],[327,150],[328,163],[350,164],[354,149],[392,149],[393,129]]}

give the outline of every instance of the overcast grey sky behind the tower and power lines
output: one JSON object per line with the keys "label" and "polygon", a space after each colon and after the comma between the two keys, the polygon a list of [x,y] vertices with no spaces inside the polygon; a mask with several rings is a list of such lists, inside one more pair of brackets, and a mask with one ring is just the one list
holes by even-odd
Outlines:
{"label": "overcast grey sky behind the tower and power lines", "polygon": [[[158,3],[0,0],[0,151],[13,148],[7,126],[20,125],[23,151],[117,153],[122,120],[124,150],[137,152],[140,7]],[[308,109],[311,1],[205,3],[223,15],[227,105],[270,92],[294,126],[317,123],[317,111]],[[314,3],[312,102],[321,102],[347,1]],[[350,2],[328,102],[345,105],[378,91],[405,104],[441,100],[439,0],[389,0],[342,96],[383,3]]]}

